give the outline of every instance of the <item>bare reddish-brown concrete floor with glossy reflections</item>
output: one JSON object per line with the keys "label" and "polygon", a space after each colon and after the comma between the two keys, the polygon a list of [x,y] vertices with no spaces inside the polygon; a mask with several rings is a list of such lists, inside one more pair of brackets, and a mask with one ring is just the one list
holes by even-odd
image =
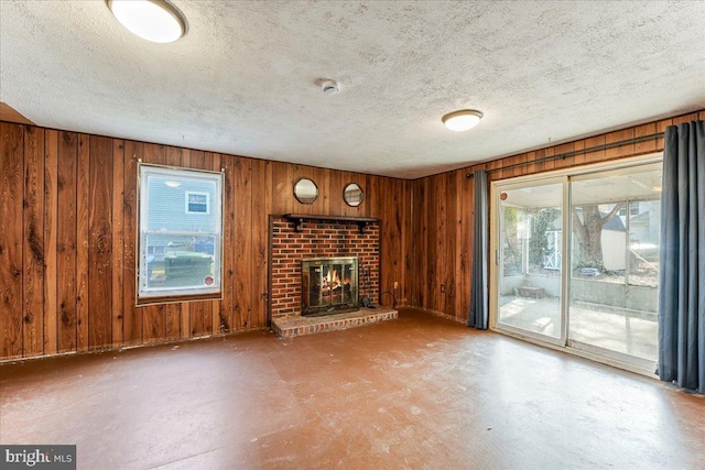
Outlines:
{"label": "bare reddish-brown concrete floor with glossy reflections", "polygon": [[696,469],[705,397],[416,310],[0,367],[0,442],[79,469]]}

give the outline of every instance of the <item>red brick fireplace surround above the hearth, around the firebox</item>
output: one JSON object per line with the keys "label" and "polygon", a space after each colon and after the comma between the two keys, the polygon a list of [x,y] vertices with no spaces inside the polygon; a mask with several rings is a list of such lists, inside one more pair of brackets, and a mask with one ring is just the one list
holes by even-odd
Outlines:
{"label": "red brick fireplace surround above the hearth, around the firebox", "polygon": [[303,311],[302,261],[355,258],[360,298],[379,303],[380,225],[377,219],[272,216],[270,238],[271,319]]}

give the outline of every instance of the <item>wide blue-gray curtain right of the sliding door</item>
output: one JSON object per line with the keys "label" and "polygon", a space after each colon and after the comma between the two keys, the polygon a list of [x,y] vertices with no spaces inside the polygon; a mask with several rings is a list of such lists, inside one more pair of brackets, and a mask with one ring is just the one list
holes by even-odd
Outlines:
{"label": "wide blue-gray curtain right of the sliding door", "polygon": [[705,121],[664,139],[659,378],[705,393]]}

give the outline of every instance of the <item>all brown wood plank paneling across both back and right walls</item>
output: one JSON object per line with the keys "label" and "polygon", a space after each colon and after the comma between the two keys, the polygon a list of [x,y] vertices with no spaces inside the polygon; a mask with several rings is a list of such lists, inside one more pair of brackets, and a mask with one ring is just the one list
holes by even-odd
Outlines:
{"label": "all brown wood plank paneling across both back and right walls", "polygon": [[[545,155],[663,132],[704,112],[416,181],[2,122],[0,210],[3,221],[15,222],[0,227],[0,360],[263,328],[272,214],[379,218],[381,292],[393,291],[400,305],[466,319],[474,238],[474,185],[466,173],[488,168],[490,179],[498,181],[659,152],[663,139],[650,139],[536,163]],[[223,300],[135,307],[138,159],[209,171],[225,167]],[[313,205],[293,196],[301,176],[318,185],[319,199]],[[359,207],[343,203],[348,183],[365,192]],[[387,305],[390,297],[383,300]]]}

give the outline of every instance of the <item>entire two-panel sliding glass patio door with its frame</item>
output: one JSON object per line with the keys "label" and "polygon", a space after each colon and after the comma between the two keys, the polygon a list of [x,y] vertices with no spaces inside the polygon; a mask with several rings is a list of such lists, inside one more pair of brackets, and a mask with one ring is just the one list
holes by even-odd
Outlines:
{"label": "entire two-panel sliding glass patio door with its frame", "polygon": [[660,190],[660,163],[495,183],[494,328],[653,371]]}

